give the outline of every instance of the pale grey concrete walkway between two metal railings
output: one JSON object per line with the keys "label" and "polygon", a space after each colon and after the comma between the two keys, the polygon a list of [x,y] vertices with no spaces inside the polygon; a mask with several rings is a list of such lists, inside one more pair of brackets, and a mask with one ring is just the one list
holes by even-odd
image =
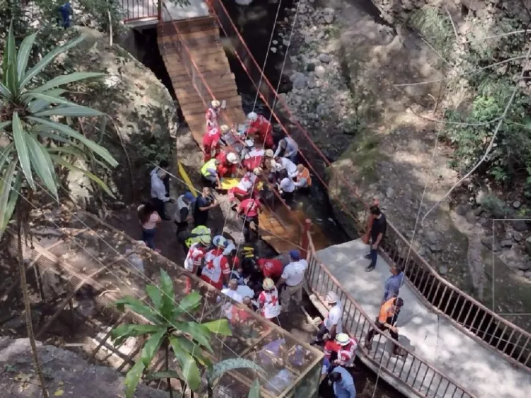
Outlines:
{"label": "pale grey concrete walkway between two metal railings", "polygon": [[[370,317],[376,317],[389,266],[378,257],[376,269],[365,272],[367,245],[360,239],[330,246],[316,257],[341,281]],[[438,317],[404,283],[404,307],[397,326],[402,345],[478,398],[531,397],[531,373],[514,368],[488,348]]]}

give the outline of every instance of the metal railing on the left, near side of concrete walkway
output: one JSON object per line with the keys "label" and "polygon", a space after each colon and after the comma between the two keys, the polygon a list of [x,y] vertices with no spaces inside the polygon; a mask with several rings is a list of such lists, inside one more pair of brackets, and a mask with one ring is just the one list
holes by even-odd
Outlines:
{"label": "metal railing on the left, near side of concrete walkway", "polygon": [[[358,340],[358,353],[362,352],[363,358],[370,361],[373,368],[379,369],[394,380],[401,383],[407,390],[418,397],[426,398],[475,398],[472,392],[457,384],[450,377],[440,373],[422,358],[408,351],[404,346],[389,337],[387,334],[378,333],[373,339],[373,349],[367,351],[362,346],[365,336],[370,329],[376,329],[373,319],[370,318],[352,296],[348,294],[341,283],[333,277],[325,266],[316,258],[312,237],[307,232],[308,262],[307,284],[311,292],[325,305],[326,292],[336,292],[341,305],[343,305],[343,327],[351,336]],[[375,344],[376,342],[376,344]],[[396,344],[406,352],[404,356],[392,354],[389,348]]]}

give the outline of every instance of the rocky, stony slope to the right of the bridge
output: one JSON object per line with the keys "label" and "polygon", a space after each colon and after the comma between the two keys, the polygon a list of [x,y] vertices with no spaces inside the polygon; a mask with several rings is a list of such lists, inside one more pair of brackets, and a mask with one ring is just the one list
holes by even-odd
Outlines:
{"label": "rocky, stony slope to the right of the bridge", "polygon": [[[275,51],[285,51],[295,14],[284,71],[292,90],[282,96],[334,161],[336,172],[326,175],[338,222],[355,230],[343,210],[360,210],[354,186],[366,202],[379,198],[401,234],[459,288],[489,307],[496,297],[496,311],[531,312],[530,225],[508,220],[492,227],[493,219],[518,217],[518,200],[494,203],[489,189],[483,200],[478,187],[464,186],[420,222],[458,175],[448,166],[452,151],[442,144],[440,124],[433,123],[441,106],[439,83],[396,84],[442,79],[438,55],[404,25],[389,26],[354,1],[301,0]],[[295,137],[303,153],[311,153],[304,135]],[[355,215],[362,219],[365,212]],[[523,318],[513,320],[529,326]]]}

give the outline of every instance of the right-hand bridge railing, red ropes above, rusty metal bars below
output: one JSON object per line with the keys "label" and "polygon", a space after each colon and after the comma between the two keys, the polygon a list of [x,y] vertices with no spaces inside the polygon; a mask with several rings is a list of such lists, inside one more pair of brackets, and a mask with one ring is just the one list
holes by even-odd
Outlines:
{"label": "right-hand bridge railing, red ropes above, rusty metal bars below", "polygon": [[[302,154],[302,157],[307,161],[310,169],[316,174],[316,177],[330,191],[330,187],[324,181],[326,178],[321,178],[312,166],[316,161],[321,160],[329,166],[331,173],[334,173],[330,161],[315,146],[306,130],[297,122],[296,116],[292,114],[285,100],[278,96],[278,93],[270,84],[267,77],[263,76],[261,66],[254,59],[222,1],[207,1],[210,3],[210,12],[217,19],[225,35],[241,42],[241,46],[236,46],[238,47],[235,49],[236,57],[249,75],[249,79],[251,79],[263,102],[273,113],[273,118],[275,118],[287,135],[296,135],[295,139],[299,142],[299,147],[301,148],[300,153],[305,152],[307,154],[306,157]],[[250,59],[251,62],[244,62],[246,59]],[[273,103],[276,103],[276,106],[273,106]],[[276,115],[273,108],[278,108],[282,113],[288,115],[290,122],[295,124],[295,127],[287,129],[285,127],[287,120],[282,116],[279,117]],[[309,147],[305,144],[308,144]],[[307,158],[312,159],[312,161],[308,161]],[[341,174],[336,173],[334,176],[336,180],[334,186],[337,193],[336,196],[338,198],[348,198],[348,203],[343,203],[338,199],[339,205],[343,212],[345,212],[345,215],[350,216],[353,220],[358,231],[362,231],[365,225],[360,224],[361,220],[359,217],[353,215],[353,210],[351,210],[352,202],[359,202],[364,205],[365,209],[367,209],[367,203],[361,197],[358,187],[349,183]],[[506,360],[510,361],[510,363],[530,370],[531,334],[529,332],[503,319],[491,309],[467,295],[467,293],[447,282],[430,264],[416,253],[409,241],[389,221],[387,235],[382,255],[389,262],[398,263],[406,269],[406,277],[409,279],[411,288],[413,288],[413,291],[426,304],[430,305],[438,314],[449,319],[450,322],[465,334],[472,336],[484,346],[496,351],[506,358]],[[407,251],[410,251],[410,256],[408,264],[405,264]]]}

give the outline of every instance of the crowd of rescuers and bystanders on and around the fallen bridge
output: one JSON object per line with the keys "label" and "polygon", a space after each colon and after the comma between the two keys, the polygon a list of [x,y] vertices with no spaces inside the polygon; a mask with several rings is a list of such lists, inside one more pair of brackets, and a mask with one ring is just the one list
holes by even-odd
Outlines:
{"label": "crowd of rescuers and bystanders on and around the fallen bridge", "polygon": [[[197,197],[185,192],[176,200],[169,196],[169,175],[167,161],[151,172],[151,203],[138,207],[142,224],[142,240],[147,246],[154,246],[156,226],[162,220],[172,220],[166,214],[166,203],[176,202],[173,220],[177,225],[177,239],[185,254],[184,268],[198,275],[205,283],[219,290],[250,309],[280,325],[279,316],[290,310],[291,302],[300,305],[304,274],[308,263],[298,250],[289,251],[288,261],[280,258],[262,258],[253,246],[252,231],[258,231],[258,217],[264,200],[263,192],[275,189],[289,201],[297,190],[312,185],[312,178],[304,164],[297,164],[298,145],[291,137],[283,137],[275,143],[271,123],[256,113],[249,113],[247,124],[239,130],[236,127],[219,125],[222,109],[219,101],[212,101],[206,113],[206,133],[202,144],[204,163],[201,175],[205,181]],[[253,139],[251,139],[253,137]],[[255,142],[258,142],[255,147]],[[235,177],[241,176],[236,179]],[[224,186],[227,179],[231,183]],[[234,178],[234,181],[232,180]],[[234,211],[243,221],[244,244],[236,248],[231,239],[216,234],[208,227],[209,211],[217,202],[212,188],[227,191],[234,203]],[[375,269],[377,249],[386,232],[385,216],[375,200],[370,208],[370,221],[365,243],[370,243],[367,271]],[[382,298],[382,307],[376,319],[376,326],[389,330],[398,338],[396,317],[404,301],[398,297],[403,273],[392,268],[392,277],[387,280]],[[186,290],[190,291],[190,280]],[[217,300],[222,300],[221,296]],[[326,302],[329,314],[319,326],[312,344],[321,345],[325,353],[322,378],[333,385],[337,398],[354,398],[353,377],[348,368],[353,366],[358,341],[343,331],[343,307],[335,292],[328,292]],[[246,312],[226,303],[223,311],[230,322],[244,322]],[[365,347],[370,350],[376,330],[367,334]],[[398,348],[394,353],[401,354]]]}

